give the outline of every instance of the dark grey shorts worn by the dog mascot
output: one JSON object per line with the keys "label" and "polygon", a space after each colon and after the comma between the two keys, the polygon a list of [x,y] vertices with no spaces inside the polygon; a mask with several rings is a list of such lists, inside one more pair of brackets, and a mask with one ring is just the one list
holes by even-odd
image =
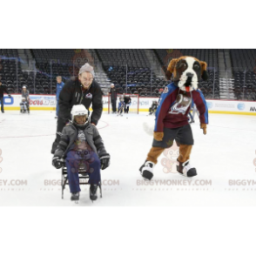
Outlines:
{"label": "dark grey shorts worn by the dog mascot", "polygon": [[174,140],[176,140],[177,144],[194,145],[194,139],[190,125],[185,125],[175,129],[164,128],[164,133],[165,136],[163,141],[157,141],[154,139],[153,147],[170,148],[172,147]]}

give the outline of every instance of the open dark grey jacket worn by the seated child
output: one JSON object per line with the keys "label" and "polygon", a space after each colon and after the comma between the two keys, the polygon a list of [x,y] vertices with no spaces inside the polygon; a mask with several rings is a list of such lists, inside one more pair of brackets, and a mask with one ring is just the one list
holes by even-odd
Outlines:
{"label": "open dark grey jacket worn by the seated child", "polygon": [[[84,135],[88,145],[91,146],[93,152],[98,154],[98,157],[101,158],[107,155],[107,152],[104,148],[103,140],[98,133],[98,129],[89,124],[84,130]],[[62,137],[57,146],[57,151],[55,152],[54,157],[66,158],[67,153],[70,151],[71,147],[77,140],[78,131],[75,125],[72,125],[70,122],[69,125],[64,127],[62,131]]]}

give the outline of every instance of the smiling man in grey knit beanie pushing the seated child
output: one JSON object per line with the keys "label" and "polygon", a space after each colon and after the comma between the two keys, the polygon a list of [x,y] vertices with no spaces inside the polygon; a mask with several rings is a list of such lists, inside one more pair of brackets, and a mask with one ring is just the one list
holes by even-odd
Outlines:
{"label": "smiling man in grey knit beanie pushing the seated child", "polygon": [[64,126],[71,120],[73,105],[84,104],[89,111],[92,104],[91,125],[98,125],[103,111],[103,92],[94,77],[93,67],[90,64],[84,64],[78,77],[64,84],[58,100],[57,138],[52,145],[52,154],[57,150]]}

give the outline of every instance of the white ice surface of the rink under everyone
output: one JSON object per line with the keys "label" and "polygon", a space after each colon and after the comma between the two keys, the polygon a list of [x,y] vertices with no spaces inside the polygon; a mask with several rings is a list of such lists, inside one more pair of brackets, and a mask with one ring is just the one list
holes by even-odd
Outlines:
{"label": "white ice surface of the rink under everyone", "polygon": [[89,186],[84,185],[75,205],[68,187],[61,199],[61,171],[51,165],[54,114],[0,114],[1,207],[256,206],[256,117],[211,114],[206,136],[196,119],[191,163],[199,176],[185,179],[165,173],[163,155],[154,179],[145,183],[138,169],[152,146],[152,135],[144,127],[153,127],[154,117],[104,113],[98,129],[111,154],[111,166],[102,172],[103,199],[92,204]]}

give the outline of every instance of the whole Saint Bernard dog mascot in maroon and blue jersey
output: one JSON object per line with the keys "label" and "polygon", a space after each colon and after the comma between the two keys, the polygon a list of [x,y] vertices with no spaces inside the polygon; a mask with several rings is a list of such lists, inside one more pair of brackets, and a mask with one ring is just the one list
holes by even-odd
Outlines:
{"label": "whole Saint Bernard dog mascot in maroon and blue jersey", "polygon": [[174,80],[160,98],[152,149],[139,170],[144,179],[152,180],[158,157],[166,148],[172,147],[174,139],[179,145],[177,171],[185,177],[197,176],[197,170],[189,161],[194,141],[187,116],[193,99],[200,113],[200,127],[206,135],[208,108],[204,95],[199,91],[200,78],[208,79],[206,69],[207,64],[195,57],[172,59],[169,64],[166,76],[173,75]]}

